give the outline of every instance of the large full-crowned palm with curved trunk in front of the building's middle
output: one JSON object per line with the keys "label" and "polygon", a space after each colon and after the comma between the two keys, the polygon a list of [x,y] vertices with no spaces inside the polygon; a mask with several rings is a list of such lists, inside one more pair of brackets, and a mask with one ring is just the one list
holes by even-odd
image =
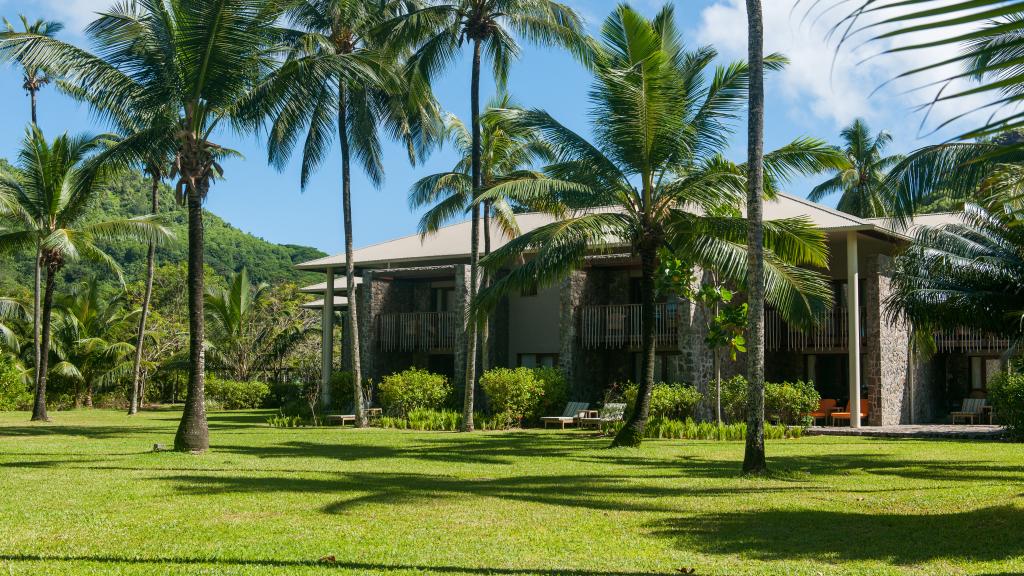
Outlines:
{"label": "large full-crowned palm with curved trunk in front of the building's middle", "polygon": [[[717,53],[688,51],[667,5],[648,20],[621,5],[602,28],[593,102],[594,143],[542,111],[509,111],[516,126],[543,134],[556,162],[548,178],[516,180],[481,193],[477,202],[507,197],[557,201],[566,217],[511,240],[484,261],[494,272],[530,257],[499,278],[478,298],[479,314],[505,294],[560,281],[593,252],[629,248],[639,256],[643,369],[634,412],[614,445],[640,444],[654,377],[654,287],[657,251],[688,254],[741,284],[746,274],[746,222],[740,213],[745,167],[727,161],[730,123],[746,91],[743,63],[706,72]],[[770,60],[779,64],[777,57]],[[767,192],[794,173],[837,165],[824,142],[798,139],[766,155]],[[798,264],[821,266],[823,236],[806,218],[766,224],[767,295],[794,322],[806,324],[829,304],[825,280]]]}

